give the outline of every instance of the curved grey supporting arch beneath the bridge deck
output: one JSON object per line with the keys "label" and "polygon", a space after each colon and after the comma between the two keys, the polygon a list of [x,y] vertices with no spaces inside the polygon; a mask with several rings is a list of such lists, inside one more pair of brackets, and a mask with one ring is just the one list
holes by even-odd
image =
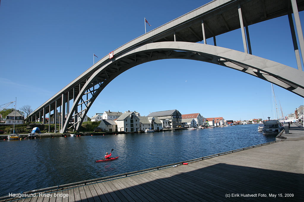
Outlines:
{"label": "curved grey supporting arch beneath the bridge deck", "polygon": [[[113,58],[101,64],[86,79],[86,83],[74,99],[66,120],[79,116],[80,120],[73,125],[74,129],[79,131],[89,108],[107,84],[132,67],[161,59],[191,59],[222,65],[269,81],[304,97],[304,72],[295,68],[244,52],[213,45],[182,41],[155,42],[134,47],[114,55]],[[90,96],[89,99],[88,95]],[[85,96],[87,97],[86,99],[84,98]],[[85,104],[85,109],[82,110],[81,108],[81,111],[79,111],[78,108],[82,104]],[[68,124],[69,121],[64,122],[60,133],[67,131]]]}

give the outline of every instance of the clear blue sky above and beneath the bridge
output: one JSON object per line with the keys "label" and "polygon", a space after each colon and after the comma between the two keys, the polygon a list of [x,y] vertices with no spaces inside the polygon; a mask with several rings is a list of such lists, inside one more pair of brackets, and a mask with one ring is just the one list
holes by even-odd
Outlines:
{"label": "clear blue sky above and beneath the bridge", "polygon": [[[2,0],[0,104],[17,97],[17,108],[28,104],[34,110],[88,69],[93,53],[100,59],[143,35],[144,17],[152,25],[147,26],[150,31],[208,2]],[[304,27],[304,14],[299,15]],[[249,34],[253,55],[296,68],[287,16],[250,25]],[[216,43],[244,51],[240,29],[216,36]],[[172,92],[171,82],[176,80]],[[131,86],[136,93],[129,92]],[[151,87],[161,94],[149,94]],[[284,116],[303,104],[303,98],[283,88],[274,85],[274,91]],[[147,116],[171,109],[206,118],[267,119],[273,117],[271,84],[201,61],[153,61],[115,78],[87,115],[130,110]]]}

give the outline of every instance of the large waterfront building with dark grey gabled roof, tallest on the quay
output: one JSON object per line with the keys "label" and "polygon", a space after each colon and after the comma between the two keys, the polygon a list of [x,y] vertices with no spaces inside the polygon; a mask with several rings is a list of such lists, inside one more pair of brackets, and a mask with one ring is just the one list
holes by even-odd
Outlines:
{"label": "large waterfront building with dark grey gabled roof, tallest on the quay", "polygon": [[181,113],[176,109],[152,112],[147,117],[157,117],[161,121],[166,120],[171,128],[181,126]]}

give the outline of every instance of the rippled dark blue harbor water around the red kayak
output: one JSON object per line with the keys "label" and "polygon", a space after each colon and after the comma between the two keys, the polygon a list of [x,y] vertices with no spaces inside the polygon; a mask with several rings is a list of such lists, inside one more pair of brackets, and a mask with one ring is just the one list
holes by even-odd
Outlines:
{"label": "rippled dark blue harbor water around the red kayak", "polygon": [[[258,125],[0,141],[0,196],[191,160],[275,141]],[[115,161],[95,163],[110,152]]]}

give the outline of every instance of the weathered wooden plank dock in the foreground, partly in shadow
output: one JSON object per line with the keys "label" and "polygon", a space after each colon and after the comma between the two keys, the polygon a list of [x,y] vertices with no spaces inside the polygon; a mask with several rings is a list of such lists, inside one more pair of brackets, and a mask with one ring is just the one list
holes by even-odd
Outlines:
{"label": "weathered wooden plank dock in the foreground, partly in shadow", "polygon": [[188,165],[0,201],[304,201],[304,129],[292,124],[289,132],[281,142]]}

